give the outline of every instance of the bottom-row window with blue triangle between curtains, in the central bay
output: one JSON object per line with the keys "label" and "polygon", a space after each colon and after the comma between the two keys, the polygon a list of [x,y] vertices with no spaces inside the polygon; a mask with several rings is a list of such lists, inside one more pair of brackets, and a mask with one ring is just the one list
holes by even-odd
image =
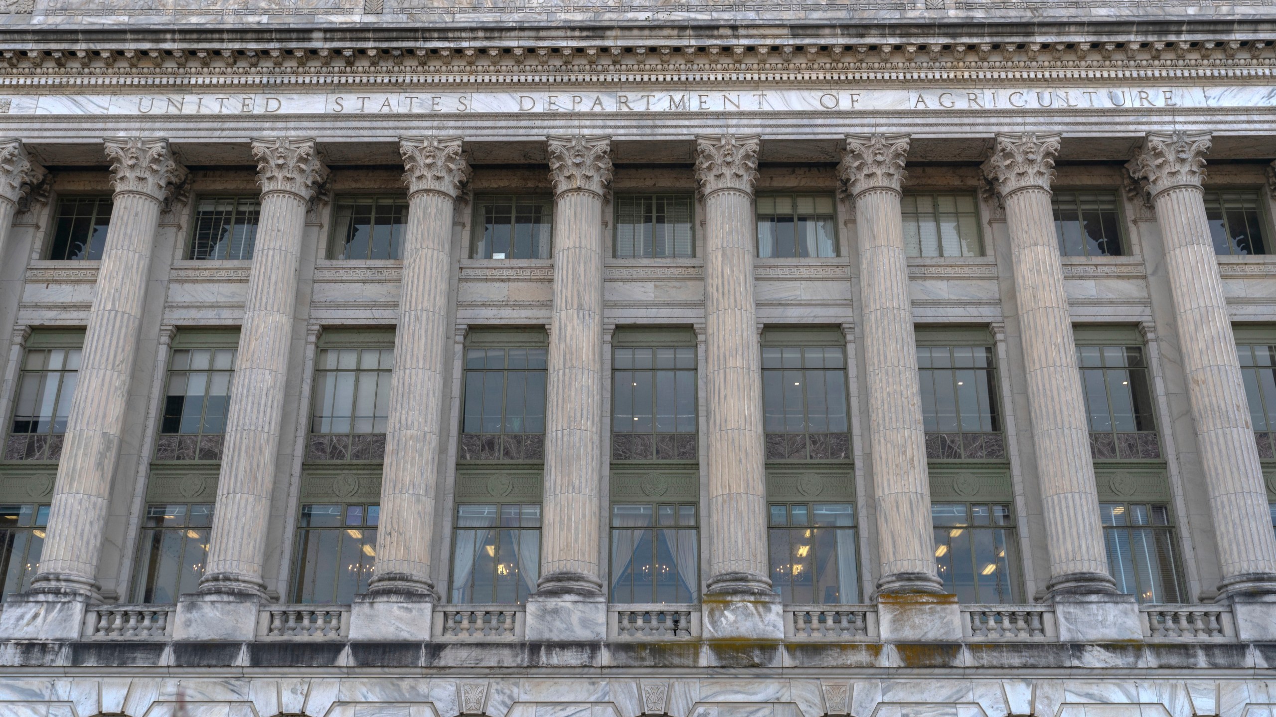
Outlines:
{"label": "bottom-row window with blue triangle between curtains, in the central bay", "polygon": [[695,602],[699,532],[695,505],[611,506],[611,602]]}

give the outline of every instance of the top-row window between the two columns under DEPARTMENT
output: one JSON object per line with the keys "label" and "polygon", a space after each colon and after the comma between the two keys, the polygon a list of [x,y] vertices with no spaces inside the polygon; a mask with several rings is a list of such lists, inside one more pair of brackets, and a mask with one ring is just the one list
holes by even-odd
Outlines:
{"label": "top-row window between the two columns under DEPARTMENT", "polygon": [[690,194],[616,196],[616,256],[692,256]]}

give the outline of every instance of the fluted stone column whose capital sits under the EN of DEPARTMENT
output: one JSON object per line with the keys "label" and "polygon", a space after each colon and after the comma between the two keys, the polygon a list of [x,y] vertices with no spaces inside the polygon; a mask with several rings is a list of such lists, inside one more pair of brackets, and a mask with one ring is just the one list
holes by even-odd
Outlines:
{"label": "fluted stone column whose capital sits under the EN of DEPARTMENT", "polygon": [[767,577],[762,367],[754,309],[753,186],[760,139],[701,137],[704,195],[704,380],[708,393],[711,593],[771,592]]}

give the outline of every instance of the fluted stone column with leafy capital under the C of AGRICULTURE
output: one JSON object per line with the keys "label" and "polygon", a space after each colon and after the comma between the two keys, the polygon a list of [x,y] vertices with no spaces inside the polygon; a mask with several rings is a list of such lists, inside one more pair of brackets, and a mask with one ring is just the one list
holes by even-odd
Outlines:
{"label": "fluted stone column with leafy capital under the C of AGRICULTURE", "polygon": [[1077,347],[1050,207],[1059,135],[998,135],[984,162],[1005,203],[1051,593],[1115,592],[1108,574]]}

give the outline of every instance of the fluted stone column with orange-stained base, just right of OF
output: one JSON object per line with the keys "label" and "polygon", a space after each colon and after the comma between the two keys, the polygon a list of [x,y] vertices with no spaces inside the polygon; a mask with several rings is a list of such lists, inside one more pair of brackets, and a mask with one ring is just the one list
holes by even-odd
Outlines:
{"label": "fluted stone column with orange-stained base, just right of OF", "polygon": [[859,218],[879,593],[943,592],[933,556],[917,342],[900,213],[909,144],[905,134],[849,135],[838,166]]}

